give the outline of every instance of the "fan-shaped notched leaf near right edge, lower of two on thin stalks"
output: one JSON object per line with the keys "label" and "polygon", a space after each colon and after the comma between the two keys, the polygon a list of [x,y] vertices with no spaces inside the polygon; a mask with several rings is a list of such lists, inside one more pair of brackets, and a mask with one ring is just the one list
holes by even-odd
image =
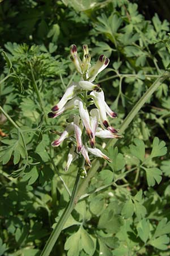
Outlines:
{"label": "fan-shaped notched leaf near right edge, lower of two on thin stalks", "polygon": [[149,187],[153,187],[155,183],[158,184],[162,180],[162,171],[158,168],[144,168],[146,171],[146,179]]}

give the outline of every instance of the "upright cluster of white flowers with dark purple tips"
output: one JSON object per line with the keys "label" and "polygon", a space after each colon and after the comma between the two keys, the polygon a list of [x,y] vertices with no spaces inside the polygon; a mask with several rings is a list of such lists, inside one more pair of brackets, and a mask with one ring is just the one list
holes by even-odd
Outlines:
{"label": "upright cluster of white flowers with dark purple tips", "polygon": [[[58,104],[53,106],[52,112],[48,113],[49,118],[56,118],[65,110],[75,108],[79,110],[78,115],[73,114],[67,119],[66,129],[63,133],[57,133],[60,137],[52,142],[53,147],[58,147],[65,139],[71,141],[65,171],[80,154],[83,155],[88,166],[91,166],[89,154],[111,161],[107,155],[95,147],[95,137],[102,139],[121,137],[108,120],[108,116],[116,118],[117,114],[105,102],[104,92],[100,85],[93,83],[96,76],[108,66],[109,59],[100,55],[96,64],[91,67],[91,56],[88,53],[87,45],[83,45],[82,60],[74,44],[71,46],[70,53],[76,71],[80,73],[82,79],[70,84]],[[96,108],[89,111],[90,105],[95,105]],[[85,130],[86,133],[84,133]],[[86,174],[85,168],[83,170],[83,173]]]}

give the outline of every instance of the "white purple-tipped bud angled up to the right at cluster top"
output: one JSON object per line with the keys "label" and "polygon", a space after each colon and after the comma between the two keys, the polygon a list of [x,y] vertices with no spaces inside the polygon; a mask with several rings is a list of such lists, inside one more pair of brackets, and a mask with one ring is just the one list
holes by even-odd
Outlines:
{"label": "white purple-tipped bud angled up to the right at cluster top", "polygon": [[103,71],[109,64],[109,59],[104,56],[100,55],[99,59],[97,60],[96,64],[91,67],[87,73],[87,79],[89,81],[94,81],[96,76]]}

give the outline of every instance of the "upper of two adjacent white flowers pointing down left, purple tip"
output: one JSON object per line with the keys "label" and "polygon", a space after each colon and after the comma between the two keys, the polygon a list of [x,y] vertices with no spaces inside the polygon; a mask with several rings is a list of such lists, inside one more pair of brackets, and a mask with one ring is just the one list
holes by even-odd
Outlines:
{"label": "upper of two adjacent white flowers pointing down left, purple tip", "polygon": [[63,94],[61,100],[58,102],[57,105],[53,106],[52,112],[57,112],[59,109],[62,109],[63,106],[67,103],[67,101],[71,100],[71,98],[76,96],[77,90],[79,89],[79,86],[76,84],[76,82],[73,82],[67,89],[66,92]]}

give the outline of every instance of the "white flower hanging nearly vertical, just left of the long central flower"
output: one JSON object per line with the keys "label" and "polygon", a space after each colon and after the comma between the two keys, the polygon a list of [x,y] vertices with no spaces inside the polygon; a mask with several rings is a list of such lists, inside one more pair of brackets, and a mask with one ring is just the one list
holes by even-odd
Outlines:
{"label": "white flower hanging nearly vertical, just left of the long central flower", "polygon": [[79,153],[82,150],[82,129],[79,125],[80,117],[75,115],[74,117],[74,132],[76,138],[76,152]]}

